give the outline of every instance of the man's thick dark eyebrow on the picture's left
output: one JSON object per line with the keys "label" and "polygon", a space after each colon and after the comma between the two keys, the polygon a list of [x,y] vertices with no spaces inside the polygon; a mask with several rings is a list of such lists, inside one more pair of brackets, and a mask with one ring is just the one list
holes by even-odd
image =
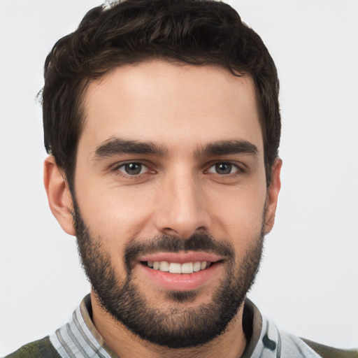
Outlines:
{"label": "man's thick dark eyebrow on the picture's left", "polygon": [[113,155],[120,154],[143,154],[163,157],[166,154],[166,150],[152,142],[127,141],[122,138],[110,138],[96,148],[93,159],[112,157]]}

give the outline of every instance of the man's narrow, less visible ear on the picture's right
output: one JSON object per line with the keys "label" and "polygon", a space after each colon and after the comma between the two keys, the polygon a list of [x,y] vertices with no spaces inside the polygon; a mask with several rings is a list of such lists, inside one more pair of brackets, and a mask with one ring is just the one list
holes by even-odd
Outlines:
{"label": "man's narrow, less visible ear on the picture's right", "polygon": [[275,213],[277,207],[278,193],[281,188],[280,171],[282,166],[282,159],[276,158],[272,166],[271,182],[267,189],[266,199],[266,222],[265,222],[265,234],[268,234],[273,228],[275,223]]}

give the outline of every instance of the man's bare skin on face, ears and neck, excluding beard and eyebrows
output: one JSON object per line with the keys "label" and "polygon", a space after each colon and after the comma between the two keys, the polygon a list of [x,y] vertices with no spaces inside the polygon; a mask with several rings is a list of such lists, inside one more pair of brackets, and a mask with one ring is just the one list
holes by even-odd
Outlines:
{"label": "man's bare skin on face, ears and neck, excluding beard and eyebrows", "polygon": [[[266,187],[264,143],[255,89],[250,76],[236,77],[218,66],[190,66],[162,60],[126,65],[87,88],[85,126],[78,143],[75,191],[91,234],[110,252],[118,277],[125,278],[122,254],[133,238],[170,234],[185,240],[199,231],[231,243],[242,262],[253,238],[273,227],[280,190],[281,160]],[[121,138],[151,142],[163,153],[96,155],[104,143]],[[245,141],[257,152],[215,154],[203,148],[220,141]],[[129,176],[124,164],[141,163]],[[217,173],[230,163],[231,173]],[[52,213],[75,235],[72,199],[53,157],[45,161],[45,188]],[[138,263],[139,265],[139,263]],[[135,283],[161,310],[199,307],[212,298],[225,262],[197,289],[195,299],[174,303],[166,289],[135,267]],[[91,292],[93,320],[120,357],[240,357],[245,348],[242,307],[220,337],[201,347],[170,350],[132,334],[116,322]],[[153,297],[155,300],[153,301]],[[180,306],[180,304],[182,306]]]}

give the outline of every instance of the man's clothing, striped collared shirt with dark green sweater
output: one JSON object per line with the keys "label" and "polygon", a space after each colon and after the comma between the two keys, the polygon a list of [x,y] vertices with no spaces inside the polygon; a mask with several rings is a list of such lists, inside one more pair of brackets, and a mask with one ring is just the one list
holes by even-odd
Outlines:
{"label": "man's clothing, striped collared shirt with dark green sweater", "polygon": [[[103,340],[91,317],[88,295],[64,326],[6,358],[120,358]],[[247,345],[240,358],[358,358],[357,350],[339,350],[280,331],[248,299],[243,310],[243,331]]]}

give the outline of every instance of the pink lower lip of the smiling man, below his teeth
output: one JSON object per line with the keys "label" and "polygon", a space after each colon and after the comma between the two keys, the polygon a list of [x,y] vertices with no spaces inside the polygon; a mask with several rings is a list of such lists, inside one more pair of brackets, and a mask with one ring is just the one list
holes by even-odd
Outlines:
{"label": "pink lower lip of the smiling man, below his teeth", "polygon": [[206,285],[220,269],[220,262],[215,262],[205,270],[193,273],[169,273],[154,270],[143,264],[139,264],[145,274],[160,287],[171,291],[190,291]]}

